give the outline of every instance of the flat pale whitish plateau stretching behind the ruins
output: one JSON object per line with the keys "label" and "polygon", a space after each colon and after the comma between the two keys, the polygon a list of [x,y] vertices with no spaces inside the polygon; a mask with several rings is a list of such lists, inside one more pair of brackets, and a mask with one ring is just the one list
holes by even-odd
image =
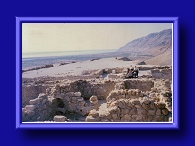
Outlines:
{"label": "flat pale whitish plateau stretching behind the ruins", "polygon": [[[54,67],[43,68],[39,70],[32,70],[22,73],[23,78],[35,78],[42,76],[51,76],[51,77],[64,77],[68,75],[80,76],[83,71],[89,70],[99,70],[106,68],[127,68],[130,65],[135,66],[140,61],[122,61],[116,58],[102,58],[94,61],[83,61],[76,62],[67,65],[59,66],[59,64],[54,64]],[[137,65],[138,66],[138,65]],[[140,65],[139,65],[140,66]],[[153,65],[144,65],[147,67],[152,67]]]}

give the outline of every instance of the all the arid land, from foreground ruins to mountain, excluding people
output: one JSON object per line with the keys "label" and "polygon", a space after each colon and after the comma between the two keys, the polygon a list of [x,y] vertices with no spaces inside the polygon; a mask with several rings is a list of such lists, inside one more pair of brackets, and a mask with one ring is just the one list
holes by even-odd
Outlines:
{"label": "all the arid land, from foreground ruins to mountain, excluding people", "polygon": [[[170,35],[148,35],[107,57],[23,70],[22,121],[172,122]],[[131,66],[138,78],[125,78]]]}

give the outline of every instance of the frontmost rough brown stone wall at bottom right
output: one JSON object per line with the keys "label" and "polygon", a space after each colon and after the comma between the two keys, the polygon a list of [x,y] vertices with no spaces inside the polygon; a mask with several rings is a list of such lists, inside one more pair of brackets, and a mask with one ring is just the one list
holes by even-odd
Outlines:
{"label": "frontmost rough brown stone wall at bottom right", "polygon": [[108,111],[90,111],[86,122],[168,122],[171,115],[163,100],[119,99],[109,106]]}

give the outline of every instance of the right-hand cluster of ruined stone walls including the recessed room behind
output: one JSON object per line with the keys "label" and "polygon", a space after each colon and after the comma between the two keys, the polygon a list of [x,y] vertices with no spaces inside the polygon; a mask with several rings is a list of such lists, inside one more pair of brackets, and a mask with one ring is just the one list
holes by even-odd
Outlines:
{"label": "right-hand cluster of ruined stone walls including the recessed room behind", "polygon": [[108,110],[105,112],[92,110],[86,117],[86,121],[171,121],[172,93],[170,87],[171,82],[169,80],[160,79],[119,82],[106,98]]}

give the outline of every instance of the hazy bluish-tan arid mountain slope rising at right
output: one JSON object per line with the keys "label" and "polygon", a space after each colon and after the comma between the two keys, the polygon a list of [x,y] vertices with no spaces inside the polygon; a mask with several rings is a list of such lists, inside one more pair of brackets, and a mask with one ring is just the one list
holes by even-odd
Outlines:
{"label": "hazy bluish-tan arid mountain slope rising at right", "polygon": [[135,39],[119,48],[118,52],[126,52],[132,59],[147,60],[147,64],[171,65],[171,50],[172,29],[166,29]]}

